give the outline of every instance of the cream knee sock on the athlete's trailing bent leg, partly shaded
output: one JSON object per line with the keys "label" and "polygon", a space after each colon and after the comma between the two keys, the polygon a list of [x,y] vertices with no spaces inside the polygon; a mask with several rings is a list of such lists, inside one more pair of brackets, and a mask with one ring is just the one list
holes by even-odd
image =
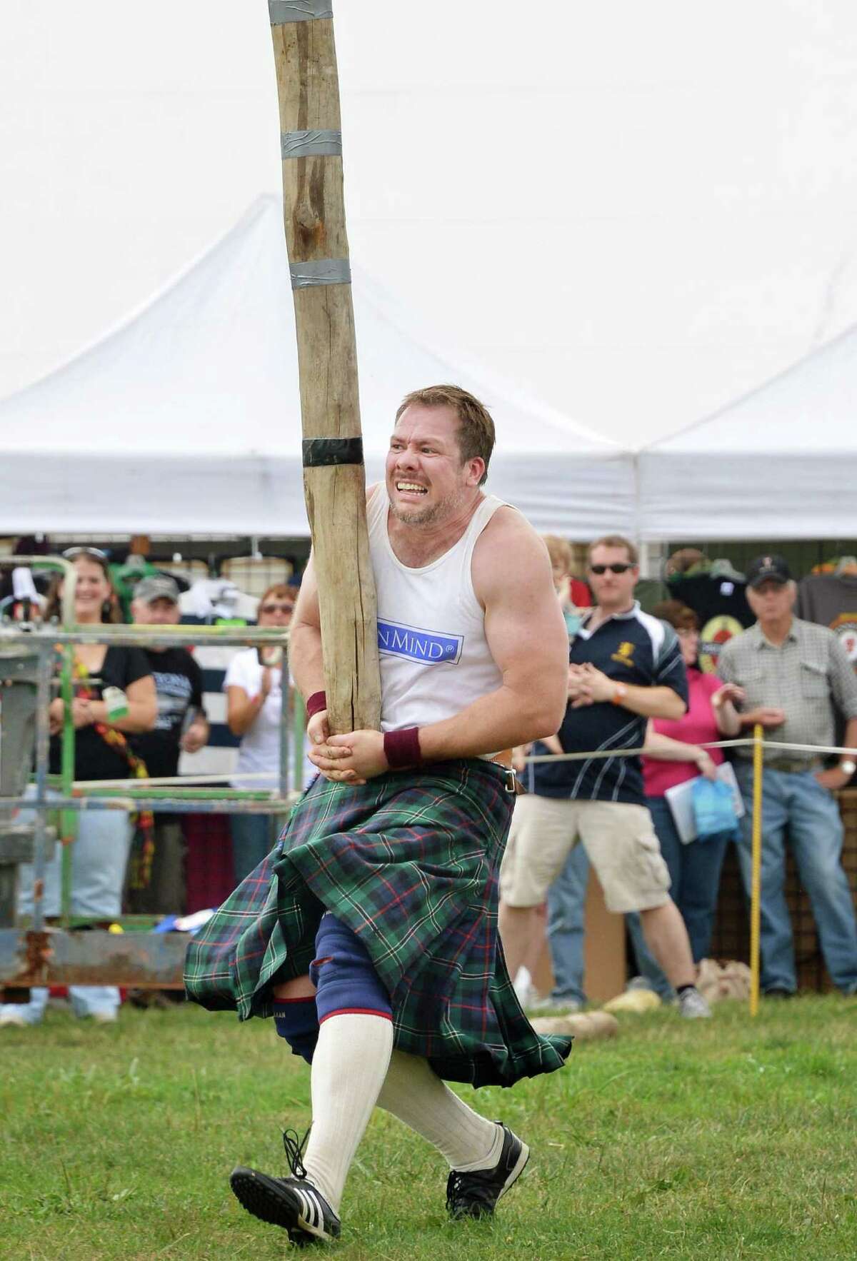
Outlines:
{"label": "cream knee sock on the athlete's trailing bent leg, partly shaded", "polygon": [[490,1169],[500,1159],[502,1127],[463,1103],[420,1055],[392,1053],[378,1107],[432,1142],[451,1169]]}

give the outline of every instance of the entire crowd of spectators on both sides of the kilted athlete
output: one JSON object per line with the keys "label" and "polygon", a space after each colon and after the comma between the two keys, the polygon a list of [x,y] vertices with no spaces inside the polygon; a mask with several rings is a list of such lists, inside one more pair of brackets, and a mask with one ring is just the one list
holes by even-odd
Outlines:
{"label": "entire crowd of spectators on both sides of the kilted athlete", "polygon": [[[754,783],[752,749],[716,745],[757,725],[765,731],[762,992],[788,997],[798,986],[785,895],[790,850],[829,976],[843,994],[856,994],[857,922],[836,793],[854,779],[857,753],[823,750],[857,749],[857,562],[842,559],[798,585],[781,556],[759,556],[741,574],[683,549],[667,566],[669,599],[644,612],[629,540],[596,540],[580,575],[572,575],[565,540],[544,542],[570,657],[560,730],[514,750],[526,792],[515,802],[500,869],[500,934],[522,1004],[539,1011],[586,1004],[591,868],[607,909],[625,917],[631,985],[654,990],[682,1016],[710,1015],[697,971],[710,953],[731,844],[749,895]],[[64,555],[76,570],[78,624],[181,620],[179,585],[169,574],[147,569],[117,578],[98,549]],[[59,618],[62,598],[62,579],[39,591],[32,576],[19,575],[14,584],[6,580],[0,613],[6,620]],[[287,628],[295,598],[287,583],[268,586],[258,599],[258,625]],[[58,685],[50,702],[52,774],[60,770],[69,716],[76,781],[175,779],[181,754],[208,745],[207,689],[194,652],[78,644],[73,673],[71,714]],[[284,686],[281,653],[232,654],[223,692],[226,724],[239,741],[236,788],[273,789],[280,782]],[[272,815],[232,816],[232,884],[265,857],[280,826]],[[181,913],[187,864],[187,816],[82,812],[71,913],[97,926],[122,912]],[[44,898],[47,914],[57,915],[59,854]],[[26,868],[19,900],[26,914],[33,904]],[[553,980],[549,992],[543,982],[539,989],[546,975]],[[115,1020],[120,1005],[108,986],[72,987],[69,1000],[78,1015],[102,1023]],[[29,1004],[0,1005],[0,1025],[37,1023],[47,1001],[47,990],[33,990]]]}

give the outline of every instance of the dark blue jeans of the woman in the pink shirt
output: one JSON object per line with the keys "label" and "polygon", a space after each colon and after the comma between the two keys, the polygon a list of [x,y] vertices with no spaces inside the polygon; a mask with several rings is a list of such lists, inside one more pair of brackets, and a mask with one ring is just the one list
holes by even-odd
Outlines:
{"label": "dark blue jeans of the woman in the pink shirt", "polygon": [[[720,871],[723,865],[728,835],[711,836],[706,841],[691,841],[683,845],[673,813],[665,797],[649,797],[652,822],[660,841],[660,852],[669,869],[670,897],[679,912],[691,938],[693,962],[705,958],[711,946],[711,931],[720,889]],[[676,992],[655,962],[643,936],[643,924],[636,912],[625,915],[630,933],[636,966],[655,994],[669,1002]]]}

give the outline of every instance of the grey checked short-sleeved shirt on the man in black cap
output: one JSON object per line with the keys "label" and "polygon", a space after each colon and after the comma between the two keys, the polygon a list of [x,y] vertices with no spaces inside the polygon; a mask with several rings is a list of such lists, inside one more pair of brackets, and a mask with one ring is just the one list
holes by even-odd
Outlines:
{"label": "grey checked short-sleeved shirt on the man in black cap", "polygon": [[[717,673],[747,694],[744,710],[759,706],[785,710],[785,723],[765,731],[765,743],[836,744],[836,709],[857,718],[857,675],[842,643],[827,627],[793,618],[779,647],[755,625],[723,646]],[[752,749],[737,749],[752,758]],[[785,753],[788,760],[800,754]],[[775,762],[776,754],[766,757]]]}

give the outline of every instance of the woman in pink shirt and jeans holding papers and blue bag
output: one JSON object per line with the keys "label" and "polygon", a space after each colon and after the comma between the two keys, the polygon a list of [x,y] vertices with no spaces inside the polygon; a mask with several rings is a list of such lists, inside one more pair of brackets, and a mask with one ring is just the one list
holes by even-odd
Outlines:
{"label": "woman in pink shirt and jeans holding papers and blue bag", "polygon": [[[715,675],[703,675],[697,667],[699,622],[692,609],[678,600],[665,600],[653,610],[654,617],[676,628],[687,668],[688,709],[683,718],[653,719],[645,736],[643,758],[645,796],[654,822],[660,852],[669,868],[670,895],[681,910],[691,938],[696,963],[705,958],[711,944],[711,929],[720,889],[720,869],[728,844],[728,834],[684,845],[678,836],[672,811],[664,797],[673,784],[706,776],[713,779],[725,760],[722,749],[702,749],[701,744],[730,739],[739,734],[739,715],[733,701],[744,696],[735,683],[721,683]],[[641,975],[662,999],[673,991],[652,955],[645,948],[638,915],[628,915],[636,962]]]}

